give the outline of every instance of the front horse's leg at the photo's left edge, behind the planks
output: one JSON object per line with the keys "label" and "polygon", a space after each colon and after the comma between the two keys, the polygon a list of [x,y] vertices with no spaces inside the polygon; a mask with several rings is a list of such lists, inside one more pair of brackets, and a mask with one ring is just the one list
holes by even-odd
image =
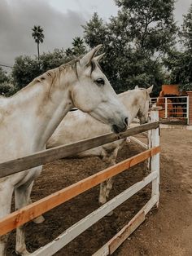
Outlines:
{"label": "front horse's leg at the photo's left edge, behind the planks", "polygon": [[[0,183],[0,218],[5,217],[11,213],[11,198],[13,193],[13,186],[7,183]],[[7,241],[9,234],[0,236],[0,255],[6,255]]]}

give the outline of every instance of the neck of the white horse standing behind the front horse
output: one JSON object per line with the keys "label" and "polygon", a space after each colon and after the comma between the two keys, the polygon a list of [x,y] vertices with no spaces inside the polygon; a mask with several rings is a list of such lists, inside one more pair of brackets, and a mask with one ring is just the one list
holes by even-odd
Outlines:
{"label": "neck of the white horse standing behind the front horse", "polygon": [[140,108],[139,92],[136,90],[127,90],[119,95],[121,102],[129,112],[129,124],[137,116]]}

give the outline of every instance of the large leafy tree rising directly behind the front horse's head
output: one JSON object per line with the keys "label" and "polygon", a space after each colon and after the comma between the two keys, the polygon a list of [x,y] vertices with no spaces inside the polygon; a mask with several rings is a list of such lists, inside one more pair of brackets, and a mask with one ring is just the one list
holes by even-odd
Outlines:
{"label": "large leafy tree rising directly behind the front horse's head", "polygon": [[108,23],[94,14],[84,28],[89,46],[103,43],[103,69],[117,92],[164,82],[162,56],[174,45],[174,0],[120,0]]}

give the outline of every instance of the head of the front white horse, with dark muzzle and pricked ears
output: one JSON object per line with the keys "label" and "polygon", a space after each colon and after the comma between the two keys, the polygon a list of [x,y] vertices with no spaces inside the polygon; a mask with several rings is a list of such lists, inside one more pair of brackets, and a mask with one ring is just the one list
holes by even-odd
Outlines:
{"label": "head of the front white horse, with dark muzzle and pricked ears", "polygon": [[100,47],[96,46],[76,63],[77,79],[71,88],[72,103],[118,133],[126,130],[129,117],[98,64],[103,55],[95,57]]}

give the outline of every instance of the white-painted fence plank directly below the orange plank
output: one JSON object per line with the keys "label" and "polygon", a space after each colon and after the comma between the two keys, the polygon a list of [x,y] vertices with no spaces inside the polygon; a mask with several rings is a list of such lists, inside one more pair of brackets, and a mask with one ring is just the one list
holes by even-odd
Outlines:
{"label": "white-painted fence plank directly below the orange plank", "polygon": [[[72,227],[69,227],[54,241],[51,241],[49,244],[41,247],[40,249],[37,249],[37,251],[35,251],[32,255],[50,256],[55,254],[59,249],[63,248],[63,246],[67,245],[70,241],[76,238],[76,236],[79,236],[87,228],[98,222],[99,219],[110,213],[111,210],[116,209],[117,206],[121,205],[124,201],[128,200],[131,196],[144,188],[148,183],[154,180],[155,177],[156,175],[154,173],[149,174],[142,181],[135,183],[133,186],[120,193],[120,195],[114,197],[113,199],[111,199],[111,201],[108,201],[105,205],[102,205],[100,208],[94,210],[94,212],[92,212],[85,218],[82,218],[78,223],[72,225]],[[101,256],[102,254],[98,255]]]}

